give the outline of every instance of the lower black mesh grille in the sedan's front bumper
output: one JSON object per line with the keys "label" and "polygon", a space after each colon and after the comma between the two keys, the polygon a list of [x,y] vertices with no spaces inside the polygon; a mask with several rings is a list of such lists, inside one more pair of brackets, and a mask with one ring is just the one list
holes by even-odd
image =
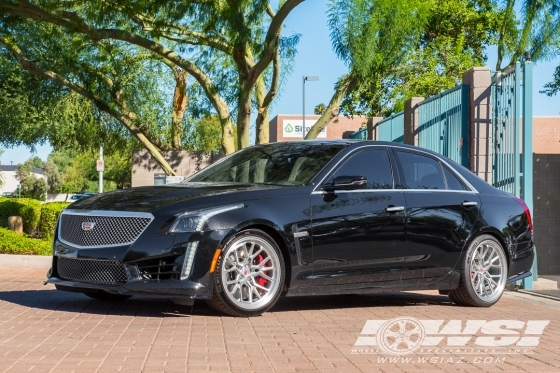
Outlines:
{"label": "lower black mesh grille in the sedan's front bumper", "polygon": [[60,278],[93,284],[126,282],[124,264],[118,260],[83,260],[57,257],[56,268]]}

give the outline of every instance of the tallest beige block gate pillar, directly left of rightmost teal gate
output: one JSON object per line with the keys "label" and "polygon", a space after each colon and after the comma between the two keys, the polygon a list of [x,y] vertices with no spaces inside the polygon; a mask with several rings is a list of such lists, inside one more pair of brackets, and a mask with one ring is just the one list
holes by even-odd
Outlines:
{"label": "tallest beige block gate pillar, directly left of rightmost teal gate", "polygon": [[488,67],[473,67],[463,74],[469,86],[469,168],[492,184],[491,76]]}

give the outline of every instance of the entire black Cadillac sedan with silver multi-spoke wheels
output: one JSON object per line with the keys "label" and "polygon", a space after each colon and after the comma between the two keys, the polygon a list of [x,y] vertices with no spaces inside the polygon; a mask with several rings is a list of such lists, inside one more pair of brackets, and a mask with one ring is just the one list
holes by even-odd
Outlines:
{"label": "entire black Cadillac sedan with silver multi-spoke wheels", "polygon": [[302,141],[238,151],[182,184],[62,213],[48,283],[96,299],[206,299],[259,315],[283,296],[440,290],[487,307],[531,275],[525,203],[436,153]]}

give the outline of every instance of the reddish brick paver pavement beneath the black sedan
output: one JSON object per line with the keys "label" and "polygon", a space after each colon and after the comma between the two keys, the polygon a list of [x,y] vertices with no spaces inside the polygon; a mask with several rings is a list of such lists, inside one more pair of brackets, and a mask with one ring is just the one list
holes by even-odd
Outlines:
{"label": "reddish brick paver pavement beneath the black sedan", "polygon": [[[560,372],[560,302],[525,294],[506,293],[488,309],[436,292],[294,297],[244,319],[203,302],[94,301],[43,286],[44,272],[0,268],[0,372]],[[354,346],[367,320],[404,316],[462,328],[471,319],[550,324],[530,349],[477,350],[476,337],[463,350],[402,356]]]}

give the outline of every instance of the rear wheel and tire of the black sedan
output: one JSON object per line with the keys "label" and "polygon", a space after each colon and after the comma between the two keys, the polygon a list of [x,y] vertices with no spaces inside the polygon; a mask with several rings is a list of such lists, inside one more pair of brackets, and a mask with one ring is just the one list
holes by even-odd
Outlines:
{"label": "rear wheel and tire of the black sedan", "polygon": [[467,249],[459,286],[449,292],[449,298],[461,306],[490,307],[504,292],[507,272],[507,257],[500,242],[494,236],[480,235]]}

